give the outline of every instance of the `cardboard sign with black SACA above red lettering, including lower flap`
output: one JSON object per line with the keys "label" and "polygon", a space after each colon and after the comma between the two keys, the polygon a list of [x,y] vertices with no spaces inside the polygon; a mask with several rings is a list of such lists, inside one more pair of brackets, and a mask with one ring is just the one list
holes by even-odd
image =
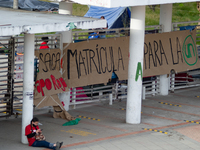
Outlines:
{"label": "cardboard sign with black SACA above red lettering, including lower flap", "polygon": [[61,52],[59,49],[37,50],[35,55],[39,59],[39,73],[35,81],[34,105],[37,108],[44,106],[59,106],[65,108],[58,98],[58,93],[68,91],[61,73]]}

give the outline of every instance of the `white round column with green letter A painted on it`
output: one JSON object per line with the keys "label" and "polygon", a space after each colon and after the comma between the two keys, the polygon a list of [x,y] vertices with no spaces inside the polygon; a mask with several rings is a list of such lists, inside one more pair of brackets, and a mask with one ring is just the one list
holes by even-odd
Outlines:
{"label": "white round column with green letter A painted on it", "polygon": [[145,6],[131,7],[126,106],[126,122],[131,124],[139,124],[141,122],[144,35]]}

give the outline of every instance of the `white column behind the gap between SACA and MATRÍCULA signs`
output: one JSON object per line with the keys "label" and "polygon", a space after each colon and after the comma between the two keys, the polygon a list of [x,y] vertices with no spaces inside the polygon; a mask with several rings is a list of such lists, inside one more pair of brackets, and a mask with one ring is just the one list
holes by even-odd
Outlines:
{"label": "white column behind the gap between SACA and MATR\u00cdCULA signs", "polygon": [[[72,14],[72,2],[59,2],[59,14]],[[61,55],[63,56],[63,43],[71,43],[72,42],[72,31],[64,31],[61,32],[60,37],[60,49],[61,49]],[[66,61],[64,61],[66,62]],[[63,71],[61,70],[61,74]],[[69,110],[69,103],[70,103],[70,91],[65,93],[58,94],[58,97],[61,101],[65,102],[65,110]]]}

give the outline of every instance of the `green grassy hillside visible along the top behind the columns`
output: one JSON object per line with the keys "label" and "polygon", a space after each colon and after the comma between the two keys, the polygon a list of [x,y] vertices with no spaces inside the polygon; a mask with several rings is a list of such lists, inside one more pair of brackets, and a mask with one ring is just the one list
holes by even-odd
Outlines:
{"label": "green grassy hillside visible along the top behind the columns", "polygon": [[[73,15],[84,16],[88,11],[88,6],[73,4]],[[160,6],[156,5],[155,11],[149,6],[146,7],[146,25],[159,24]],[[176,3],[173,4],[172,22],[197,21],[199,19],[199,11],[196,2],[193,3]]]}

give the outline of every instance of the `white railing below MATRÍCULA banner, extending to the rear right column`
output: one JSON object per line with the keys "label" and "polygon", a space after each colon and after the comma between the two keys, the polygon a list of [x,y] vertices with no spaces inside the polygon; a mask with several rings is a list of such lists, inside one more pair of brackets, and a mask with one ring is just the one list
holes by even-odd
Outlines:
{"label": "white railing below MATR\u00cdCULA banner, extending to the rear right column", "polygon": [[[159,94],[159,80],[159,77],[150,77],[143,81],[142,99]],[[78,104],[108,101],[109,105],[112,105],[114,100],[126,99],[127,81],[120,82],[111,85],[91,85],[81,90],[73,88],[71,89],[70,105],[75,109]]]}

